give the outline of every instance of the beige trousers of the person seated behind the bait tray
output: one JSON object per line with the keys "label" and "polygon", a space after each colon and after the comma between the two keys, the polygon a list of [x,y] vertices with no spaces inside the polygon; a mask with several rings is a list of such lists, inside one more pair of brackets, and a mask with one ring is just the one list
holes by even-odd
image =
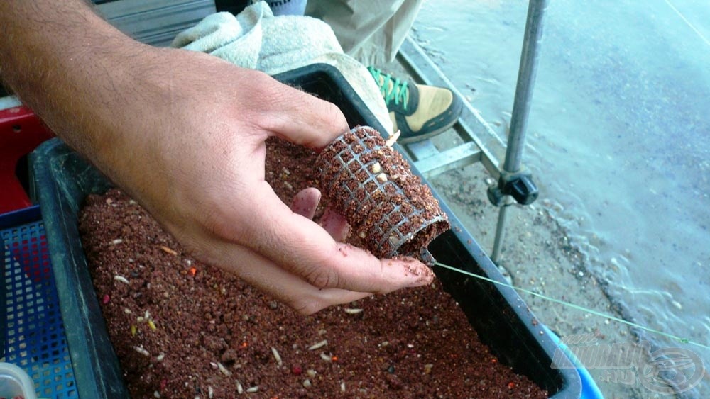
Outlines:
{"label": "beige trousers of the person seated behind the bait tray", "polygon": [[306,15],[334,31],[343,51],[365,65],[392,62],[423,0],[308,0]]}

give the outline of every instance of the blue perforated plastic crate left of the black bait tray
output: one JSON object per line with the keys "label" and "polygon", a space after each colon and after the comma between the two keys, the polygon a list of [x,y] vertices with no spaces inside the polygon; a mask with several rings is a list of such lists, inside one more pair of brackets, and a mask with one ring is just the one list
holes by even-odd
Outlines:
{"label": "blue perforated plastic crate left of the black bait tray", "polygon": [[38,206],[0,215],[7,291],[5,356],[40,398],[76,398],[72,361]]}

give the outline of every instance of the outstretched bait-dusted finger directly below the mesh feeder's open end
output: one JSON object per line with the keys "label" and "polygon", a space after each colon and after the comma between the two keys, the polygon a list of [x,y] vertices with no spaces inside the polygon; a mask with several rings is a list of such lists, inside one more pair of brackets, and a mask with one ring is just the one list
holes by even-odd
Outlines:
{"label": "outstretched bait-dusted finger directly below the mesh feeder's open end", "polygon": [[304,222],[278,201],[268,184],[263,186],[251,198],[256,201],[257,218],[262,219],[261,229],[249,232],[246,244],[290,273],[320,288],[371,293],[432,281],[431,269],[415,259],[381,260],[363,249],[336,242],[322,227]]}

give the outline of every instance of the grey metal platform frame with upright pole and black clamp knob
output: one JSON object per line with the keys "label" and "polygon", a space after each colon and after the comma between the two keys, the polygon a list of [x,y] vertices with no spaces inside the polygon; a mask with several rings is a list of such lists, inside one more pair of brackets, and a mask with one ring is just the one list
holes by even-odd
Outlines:
{"label": "grey metal platform frame with upright pole and black clamp knob", "polygon": [[[405,149],[415,160],[415,167],[425,179],[477,162],[481,162],[488,173],[496,179],[498,186],[489,188],[489,194],[493,189],[498,190],[498,196],[501,196],[498,201],[491,199],[496,206],[500,206],[496,238],[491,255],[491,259],[496,263],[501,259],[503,250],[508,208],[515,203],[506,184],[520,176],[526,176],[524,179],[528,179],[528,184],[532,184],[530,174],[525,172],[521,159],[525,145],[528,114],[530,113],[532,87],[535,84],[537,72],[537,46],[542,38],[542,16],[546,8],[547,0],[530,0],[528,5],[528,18],[525,24],[525,37],[520,55],[518,84],[515,88],[515,102],[510,118],[507,146],[468,101],[464,101],[461,117],[454,125],[454,130],[464,141],[463,144],[444,151],[439,151],[431,140],[405,145]],[[418,83],[446,87],[459,98],[464,98],[412,39],[405,40],[405,43],[400,47],[397,60]],[[503,159],[502,163],[501,159]],[[535,201],[537,187],[532,184],[532,189],[535,191],[534,196],[528,196],[523,200],[516,197],[518,203],[529,205]],[[491,195],[488,198],[491,198]]]}

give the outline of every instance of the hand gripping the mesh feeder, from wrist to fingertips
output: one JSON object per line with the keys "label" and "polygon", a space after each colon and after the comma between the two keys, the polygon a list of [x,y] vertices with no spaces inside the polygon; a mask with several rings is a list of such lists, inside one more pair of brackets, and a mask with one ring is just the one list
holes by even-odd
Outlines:
{"label": "hand gripping the mesh feeder, from wrist to fingertips", "polygon": [[[160,69],[136,82],[136,102],[120,113],[133,120],[122,127],[141,123],[116,132],[100,153],[110,154],[111,176],[189,252],[302,313],[432,281],[413,259],[380,260],[338,242],[342,223],[326,221],[332,237],[266,183],[266,138],[322,148],[348,129],[337,107],[208,55],[156,51]],[[310,190],[295,201],[315,210],[318,200]]]}

